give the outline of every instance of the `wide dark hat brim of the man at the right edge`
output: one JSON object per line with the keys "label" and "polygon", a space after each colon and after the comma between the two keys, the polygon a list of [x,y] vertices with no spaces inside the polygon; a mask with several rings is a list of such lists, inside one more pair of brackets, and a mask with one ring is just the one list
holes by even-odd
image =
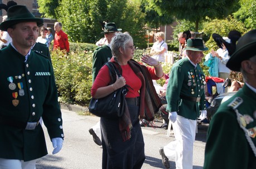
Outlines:
{"label": "wide dark hat brim of the man at the right edge", "polygon": [[255,55],[256,41],[236,50],[229,58],[226,66],[233,71],[240,71],[241,62],[248,60]]}

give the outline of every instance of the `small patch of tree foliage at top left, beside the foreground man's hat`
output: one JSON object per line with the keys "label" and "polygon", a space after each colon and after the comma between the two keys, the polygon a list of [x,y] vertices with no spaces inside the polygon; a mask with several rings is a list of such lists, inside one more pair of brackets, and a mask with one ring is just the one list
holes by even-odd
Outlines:
{"label": "small patch of tree foliage at top left, beside the foreground man's hat", "polygon": [[61,0],[37,0],[39,12],[46,18],[57,18],[55,9],[59,6]]}

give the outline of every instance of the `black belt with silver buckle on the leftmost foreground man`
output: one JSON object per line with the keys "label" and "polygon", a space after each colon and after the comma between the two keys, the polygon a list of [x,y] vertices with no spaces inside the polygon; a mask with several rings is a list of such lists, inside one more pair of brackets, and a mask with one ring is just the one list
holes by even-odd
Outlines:
{"label": "black belt with silver buckle on the leftmost foreground man", "polygon": [[22,122],[17,120],[9,120],[5,117],[0,117],[0,124],[17,127],[19,129],[35,130],[36,126],[39,124],[39,120],[37,122]]}

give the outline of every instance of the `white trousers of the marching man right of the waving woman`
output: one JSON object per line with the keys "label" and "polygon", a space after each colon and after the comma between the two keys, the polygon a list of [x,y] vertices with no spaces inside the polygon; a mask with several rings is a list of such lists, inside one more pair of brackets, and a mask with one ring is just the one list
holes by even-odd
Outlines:
{"label": "white trousers of the marching man right of the waving woman", "polygon": [[193,145],[195,141],[196,120],[177,117],[173,123],[175,141],[164,146],[164,153],[169,160],[176,162],[176,169],[193,168]]}

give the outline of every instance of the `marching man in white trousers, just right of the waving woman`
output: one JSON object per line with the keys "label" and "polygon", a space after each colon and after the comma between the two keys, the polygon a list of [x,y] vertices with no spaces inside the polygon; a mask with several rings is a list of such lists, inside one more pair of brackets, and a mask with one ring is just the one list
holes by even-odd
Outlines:
{"label": "marching man in white trousers, just right of the waving woman", "polygon": [[166,110],[173,122],[175,141],[160,147],[159,152],[165,168],[170,167],[169,159],[175,158],[177,169],[193,168],[193,144],[195,141],[196,118],[206,116],[204,87],[205,76],[199,63],[203,58],[202,39],[188,39],[184,59],[178,60],[171,68],[166,90]]}

